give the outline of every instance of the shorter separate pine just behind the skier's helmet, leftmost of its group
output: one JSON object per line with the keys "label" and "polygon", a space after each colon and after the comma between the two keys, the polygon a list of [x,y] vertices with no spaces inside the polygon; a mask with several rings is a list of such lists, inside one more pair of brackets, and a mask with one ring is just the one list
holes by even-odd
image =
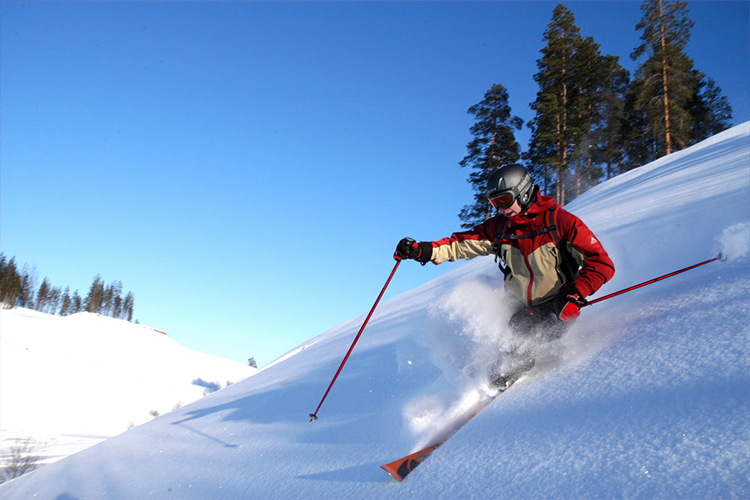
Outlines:
{"label": "shorter separate pine just behind the skier's helmet, leftmost of its group", "polygon": [[485,193],[487,181],[492,172],[521,158],[513,130],[523,126],[523,120],[512,114],[508,91],[500,84],[485,92],[484,99],[471,106],[468,113],[476,118],[470,129],[474,139],[466,146],[468,154],[459,164],[472,169],[468,182],[474,190],[474,203],[465,205],[459,214],[464,228],[474,227],[492,215]]}

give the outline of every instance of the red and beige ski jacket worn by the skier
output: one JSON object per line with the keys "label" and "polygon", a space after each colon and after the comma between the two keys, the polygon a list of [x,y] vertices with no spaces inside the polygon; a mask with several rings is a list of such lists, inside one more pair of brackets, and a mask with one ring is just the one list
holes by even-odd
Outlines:
{"label": "red and beige ski jacket worn by the skier", "polygon": [[[552,216],[556,229],[550,224]],[[556,244],[556,236],[564,249]],[[522,214],[511,218],[496,215],[472,230],[432,242],[431,260],[440,264],[496,253],[502,260],[506,290],[532,307],[552,299],[568,284],[561,255],[564,250],[574,258],[575,266],[580,266],[572,284],[584,297],[615,273],[612,259],[583,221],[552,197],[540,195]]]}

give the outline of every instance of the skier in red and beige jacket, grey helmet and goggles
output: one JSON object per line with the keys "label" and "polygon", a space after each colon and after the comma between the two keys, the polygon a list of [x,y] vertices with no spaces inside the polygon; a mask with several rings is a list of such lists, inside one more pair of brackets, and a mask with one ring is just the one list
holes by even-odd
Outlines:
{"label": "skier in red and beige jacket, grey helmet and goggles", "polygon": [[437,241],[403,238],[394,258],[424,265],[496,256],[515,308],[509,326],[516,347],[501,353],[490,372],[491,386],[503,391],[533,368],[528,346],[560,338],[615,267],[594,233],[552,197],[540,195],[524,167],[493,172],[487,193],[497,215]]}

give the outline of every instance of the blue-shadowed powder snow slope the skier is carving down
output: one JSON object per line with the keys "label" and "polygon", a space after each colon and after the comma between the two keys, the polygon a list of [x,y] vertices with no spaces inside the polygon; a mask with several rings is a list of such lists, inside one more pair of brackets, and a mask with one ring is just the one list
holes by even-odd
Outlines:
{"label": "blue-shadowed powder snow slope the skier is carving down", "polygon": [[[719,252],[728,258],[584,309],[541,348],[529,377],[402,483],[379,465],[445,432],[482,397],[477,374],[508,344],[491,257],[381,303],[318,421],[308,424],[308,414],[364,316],[242,382],[6,483],[0,496],[747,498],[750,123],[567,208],[617,266],[598,296]],[[383,263],[384,279],[392,265]],[[54,421],[73,392],[36,417]]]}

